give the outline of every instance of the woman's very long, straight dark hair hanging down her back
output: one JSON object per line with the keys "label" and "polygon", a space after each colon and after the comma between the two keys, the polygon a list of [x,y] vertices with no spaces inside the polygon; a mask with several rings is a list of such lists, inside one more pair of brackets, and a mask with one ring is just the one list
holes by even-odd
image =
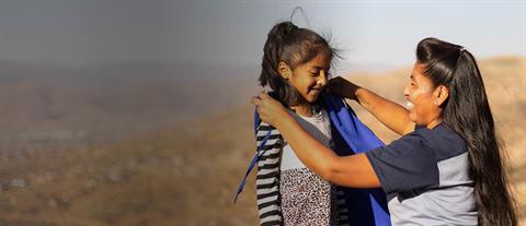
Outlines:
{"label": "woman's very long, straight dark hair hanging down her back", "polygon": [[435,87],[449,90],[441,106],[443,122],[466,141],[479,225],[517,225],[502,148],[474,57],[461,46],[425,38],[419,43],[416,59]]}

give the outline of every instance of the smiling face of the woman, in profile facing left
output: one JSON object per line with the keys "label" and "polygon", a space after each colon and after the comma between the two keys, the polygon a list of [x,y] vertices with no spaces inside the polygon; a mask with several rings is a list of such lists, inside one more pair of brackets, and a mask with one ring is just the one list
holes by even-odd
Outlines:
{"label": "smiling face of the woman, in profile facing left", "polygon": [[442,102],[438,99],[441,87],[435,88],[432,81],[422,74],[423,70],[423,64],[414,63],[411,80],[403,94],[408,102],[409,119],[419,126],[434,127],[442,121]]}

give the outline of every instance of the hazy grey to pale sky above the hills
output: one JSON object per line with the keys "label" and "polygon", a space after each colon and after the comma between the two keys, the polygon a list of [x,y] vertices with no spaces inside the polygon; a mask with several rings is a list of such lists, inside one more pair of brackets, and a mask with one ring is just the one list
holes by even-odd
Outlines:
{"label": "hazy grey to pale sky above the hills", "polygon": [[0,0],[0,62],[259,66],[270,28],[332,34],[344,63],[410,64],[422,38],[526,56],[526,1]]}

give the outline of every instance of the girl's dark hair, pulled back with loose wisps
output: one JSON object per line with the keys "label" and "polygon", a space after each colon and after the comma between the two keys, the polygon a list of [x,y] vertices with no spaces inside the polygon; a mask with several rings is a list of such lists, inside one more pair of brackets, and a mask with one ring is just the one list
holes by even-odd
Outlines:
{"label": "girl's dark hair, pulled back with loose wisps", "polygon": [[279,75],[277,66],[283,61],[295,69],[318,55],[327,56],[331,62],[334,56],[339,56],[322,36],[308,28],[297,27],[289,21],[274,25],[263,47],[261,86],[268,85],[284,105],[302,103],[298,91]]}

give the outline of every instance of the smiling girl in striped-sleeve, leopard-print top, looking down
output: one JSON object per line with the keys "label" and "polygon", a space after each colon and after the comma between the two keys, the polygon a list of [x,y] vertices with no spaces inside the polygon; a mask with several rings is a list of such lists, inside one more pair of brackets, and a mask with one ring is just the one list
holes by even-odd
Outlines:
{"label": "smiling girl in striped-sleeve, leopard-print top, looking down", "polygon": [[[271,29],[263,51],[261,85],[270,86],[298,126],[319,145],[330,150],[334,135],[342,139],[331,127],[325,105],[319,97],[336,56],[334,49],[317,33],[283,22]],[[377,207],[387,206],[381,190],[338,192],[298,159],[293,152],[295,147],[283,140],[279,131],[265,122],[256,128],[256,144],[261,148],[259,158],[254,159],[258,160],[261,225],[346,225],[348,221],[361,225],[389,225],[387,212]],[[348,213],[345,205],[348,198],[359,211]]]}

